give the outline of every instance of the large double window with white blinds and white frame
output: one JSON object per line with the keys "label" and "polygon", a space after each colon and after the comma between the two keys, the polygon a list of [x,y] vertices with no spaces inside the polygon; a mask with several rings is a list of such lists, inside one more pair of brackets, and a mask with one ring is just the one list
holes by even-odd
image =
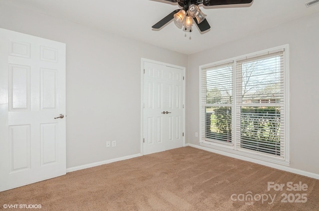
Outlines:
{"label": "large double window with white blinds and white frame", "polygon": [[203,145],[289,161],[287,48],[200,67]]}

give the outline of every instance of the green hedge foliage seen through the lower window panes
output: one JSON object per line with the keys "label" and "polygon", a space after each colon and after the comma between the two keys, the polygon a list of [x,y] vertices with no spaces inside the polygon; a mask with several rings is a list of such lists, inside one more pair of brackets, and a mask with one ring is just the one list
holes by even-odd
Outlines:
{"label": "green hedge foliage seen through the lower window panes", "polygon": [[[210,108],[206,113],[206,137],[231,141],[231,117],[231,107]],[[280,154],[277,152],[280,149],[279,107],[242,107],[240,121],[241,147]]]}

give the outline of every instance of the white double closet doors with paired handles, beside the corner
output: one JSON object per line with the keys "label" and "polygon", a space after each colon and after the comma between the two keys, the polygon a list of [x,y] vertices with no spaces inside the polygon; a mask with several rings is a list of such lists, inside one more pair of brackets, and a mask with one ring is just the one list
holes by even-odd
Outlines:
{"label": "white double closet doors with paired handles, beside the corner", "polygon": [[184,69],[144,62],[143,153],[184,145]]}

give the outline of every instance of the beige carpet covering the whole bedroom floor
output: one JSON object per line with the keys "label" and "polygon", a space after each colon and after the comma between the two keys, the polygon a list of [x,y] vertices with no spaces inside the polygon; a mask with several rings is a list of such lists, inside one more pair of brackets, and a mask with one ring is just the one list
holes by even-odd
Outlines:
{"label": "beige carpet covering the whole bedroom floor", "polygon": [[0,210],[319,211],[319,180],[183,147],[0,192]]}

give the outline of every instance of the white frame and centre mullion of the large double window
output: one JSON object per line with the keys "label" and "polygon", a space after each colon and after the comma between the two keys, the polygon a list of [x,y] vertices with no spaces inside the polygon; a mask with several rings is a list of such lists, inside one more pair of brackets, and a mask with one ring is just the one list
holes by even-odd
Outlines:
{"label": "white frame and centre mullion of the large double window", "polygon": [[[268,55],[272,54],[275,52],[279,51],[284,51],[284,122],[285,122],[285,130],[284,130],[284,136],[285,136],[285,145],[284,145],[284,154],[282,157],[274,156],[271,154],[266,154],[266,153],[259,153],[254,150],[245,150],[245,149],[238,149],[236,148],[236,141],[237,140],[237,134],[240,133],[238,129],[236,128],[236,118],[237,115],[235,112],[237,112],[236,107],[237,107],[237,90],[236,90],[236,61],[240,61],[243,59],[249,59],[249,58],[254,58],[254,57],[260,57],[263,55]],[[219,65],[223,65],[226,63],[233,63],[233,100],[234,100],[234,106],[232,107],[232,142],[231,143],[223,143],[221,141],[206,141],[205,137],[203,137],[203,134],[205,134],[205,124],[203,123],[203,115],[205,115],[205,106],[202,104],[202,71],[207,68],[211,67],[216,67]],[[219,62],[214,62],[214,63],[209,63],[206,65],[201,65],[199,66],[199,122],[200,122],[200,136],[199,136],[199,145],[204,146],[204,147],[209,147],[212,148],[214,151],[220,152],[221,154],[227,154],[231,153],[234,155],[239,155],[239,156],[244,156],[246,158],[253,158],[257,160],[261,160],[264,162],[270,162],[270,163],[275,163],[275,164],[280,164],[280,165],[290,165],[290,71],[289,71],[289,45],[283,45],[283,46],[278,46],[275,48],[270,48],[258,52],[254,52],[251,54],[246,54],[243,56],[238,56],[235,58],[219,61]]]}

